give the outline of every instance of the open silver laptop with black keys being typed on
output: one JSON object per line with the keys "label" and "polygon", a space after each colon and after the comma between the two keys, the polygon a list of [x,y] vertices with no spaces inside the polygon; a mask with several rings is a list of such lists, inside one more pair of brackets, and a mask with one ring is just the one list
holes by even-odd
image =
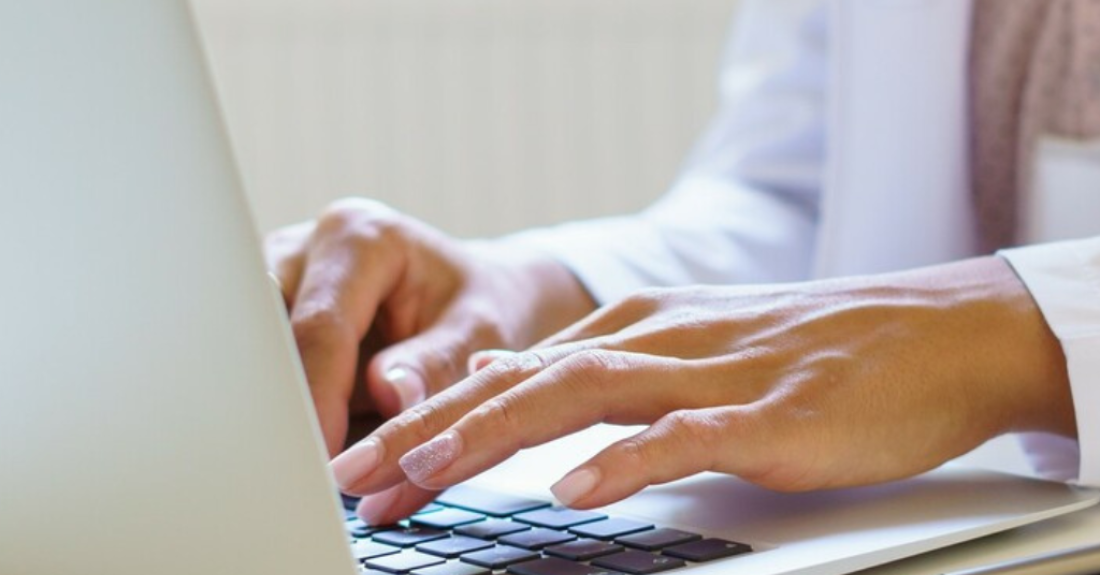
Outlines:
{"label": "open silver laptop with black keys being typed on", "polygon": [[[530,511],[502,510],[493,497],[549,505],[553,479],[630,431],[596,428],[525,452],[444,494],[447,505],[418,523],[354,532],[363,526],[348,517],[327,469],[188,4],[0,2],[0,573],[377,572],[378,562],[353,559],[353,540],[386,545],[395,533],[429,529],[432,512],[455,510],[532,527],[532,516],[520,517]],[[658,571],[824,575],[1097,498],[950,467],[803,495],[704,474],[601,513],[617,528],[728,542],[732,556],[647,549],[630,534],[607,537],[606,523],[595,528],[603,534],[582,529],[603,521],[592,517],[558,530],[622,540],[624,553],[651,553]],[[548,511],[534,517],[568,515]],[[459,529],[442,527],[436,541]],[[649,529],[641,540],[652,540]],[[391,546],[402,557],[431,554]],[[597,560],[548,561],[543,549],[498,571],[624,572]],[[406,571],[465,567],[479,565],[460,555]]]}

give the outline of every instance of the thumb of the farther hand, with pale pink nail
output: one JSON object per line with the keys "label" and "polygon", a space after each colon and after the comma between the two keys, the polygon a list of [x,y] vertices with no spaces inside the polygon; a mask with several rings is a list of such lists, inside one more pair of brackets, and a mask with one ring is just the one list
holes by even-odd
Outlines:
{"label": "thumb of the farther hand, with pale pink nail", "polygon": [[396,416],[465,378],[471,352],[499,345],[499,339],[498,330],[457,308],[421,334],[375,355],[366,372],[371,397],[383,416]]}

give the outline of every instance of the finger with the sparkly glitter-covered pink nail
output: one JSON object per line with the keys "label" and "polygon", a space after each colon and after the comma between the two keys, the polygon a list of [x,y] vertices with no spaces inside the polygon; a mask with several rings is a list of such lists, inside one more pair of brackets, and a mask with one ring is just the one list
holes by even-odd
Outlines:
{"label": "finger with the sparkly glitter-covered pink nail", "polygon": [[[572,355],[491,399],[409,452],[410,482],[444,489],[515,455],[595,423],[648,423],[694,407],[684,364],[653,355],[591,350]],[[624,400],[629,398],[629,400]]]}

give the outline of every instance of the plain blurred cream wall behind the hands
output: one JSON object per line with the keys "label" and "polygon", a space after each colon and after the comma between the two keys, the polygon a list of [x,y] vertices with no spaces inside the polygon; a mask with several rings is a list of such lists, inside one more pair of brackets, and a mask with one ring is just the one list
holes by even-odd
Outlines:
{"label": "plain blurred cream wall behind the hands", "polygon": [[195,4],[262,230],[360,195],[483,236],[660,195],[735,0]]}

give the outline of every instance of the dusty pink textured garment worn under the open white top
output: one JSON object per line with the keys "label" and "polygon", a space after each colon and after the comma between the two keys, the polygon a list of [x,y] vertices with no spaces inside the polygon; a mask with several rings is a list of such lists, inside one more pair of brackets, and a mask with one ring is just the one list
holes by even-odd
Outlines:
{"label": "dusty pink textured garment worn under the open white top", "polygon": [[1100,136],[1100,0],[975,0],[970,66],[971,178],[992,251],[1018,241],[1038,139]]}

